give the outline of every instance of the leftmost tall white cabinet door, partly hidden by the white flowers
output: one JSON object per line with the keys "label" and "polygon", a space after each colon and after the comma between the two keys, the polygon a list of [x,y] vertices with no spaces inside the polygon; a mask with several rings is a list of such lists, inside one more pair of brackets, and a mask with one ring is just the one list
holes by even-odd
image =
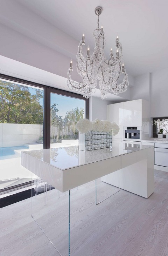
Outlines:
{"label": "leftmost tall white cabinet door, partly hidden by the white flowers", "polygon": [[116,122],[120,128],[113,140],[123,140],[123,102],[107,105],[107,120]]}

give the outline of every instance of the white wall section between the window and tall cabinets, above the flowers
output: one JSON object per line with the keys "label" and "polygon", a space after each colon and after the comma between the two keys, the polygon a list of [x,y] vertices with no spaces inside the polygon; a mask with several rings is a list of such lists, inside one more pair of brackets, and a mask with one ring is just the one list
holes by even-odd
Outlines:
{"label": "white wall section between the window and tall cabinets, above the flowers", "polygon": [[89,120],[94,119],[106,120],[107,119],[107,105],[114,102],[109,100],[102,100],[98,97],[91,96],[89,98]]}

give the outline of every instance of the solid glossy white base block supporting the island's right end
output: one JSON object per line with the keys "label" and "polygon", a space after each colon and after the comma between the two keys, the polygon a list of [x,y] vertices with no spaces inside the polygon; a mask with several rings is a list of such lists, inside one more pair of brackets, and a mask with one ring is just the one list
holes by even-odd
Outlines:
{"label": "solid glossy white base block supporting the island's right end", "polygon": [[102,177],[102,181],[148,198],[154,192],[153,150],[151,147],[123,155],[121,169]]}

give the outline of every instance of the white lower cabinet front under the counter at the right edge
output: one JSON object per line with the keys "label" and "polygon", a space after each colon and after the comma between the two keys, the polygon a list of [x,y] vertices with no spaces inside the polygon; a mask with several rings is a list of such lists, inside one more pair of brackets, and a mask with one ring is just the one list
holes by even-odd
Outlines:
{"label": "white lower cabinet front under the counter at the right edge", "polygon": [[155,143],[155,164],[168,167],[168,144]]}

